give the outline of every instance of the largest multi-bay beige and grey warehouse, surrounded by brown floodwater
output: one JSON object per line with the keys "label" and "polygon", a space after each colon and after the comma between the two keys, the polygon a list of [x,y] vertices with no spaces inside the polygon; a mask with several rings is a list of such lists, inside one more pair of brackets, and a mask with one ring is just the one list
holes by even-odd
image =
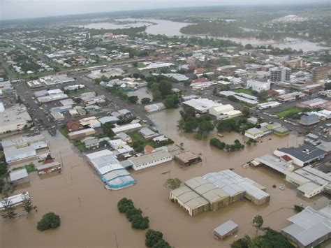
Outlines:
{"label": "largest multi-bay beige and grey warehouse, surrounded by brown floodwater", "polygon": [[216,211],[244,198],[256,205],[270,201],[265,187],[231,170],[193,177],[185,182],[184,187],[170,192],[170,199],[191,216],[200,212]]}

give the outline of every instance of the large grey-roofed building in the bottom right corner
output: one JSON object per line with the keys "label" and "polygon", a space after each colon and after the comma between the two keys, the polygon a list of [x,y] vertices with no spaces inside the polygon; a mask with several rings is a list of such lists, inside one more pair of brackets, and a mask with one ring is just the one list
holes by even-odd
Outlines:
{"label": "large grey-roofed building in the bottom right corner", "polygon": [[306,207],[302,212],[288,218],[290,226],[281,230],[286,238],[295,242],[297,247],[317,247],[331,238],[330,202],[321,210]]}

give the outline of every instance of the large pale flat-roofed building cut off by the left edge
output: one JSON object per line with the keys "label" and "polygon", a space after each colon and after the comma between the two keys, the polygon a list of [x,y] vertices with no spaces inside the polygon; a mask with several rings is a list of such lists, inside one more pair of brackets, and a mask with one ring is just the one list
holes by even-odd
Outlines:
{"label": "large pale flat-roofed building cut off by the left edge", "polygon": [[31,126],[32,119],[24,105],[13,105],[4,108],[0,103],[0,134],[20,131]]}

